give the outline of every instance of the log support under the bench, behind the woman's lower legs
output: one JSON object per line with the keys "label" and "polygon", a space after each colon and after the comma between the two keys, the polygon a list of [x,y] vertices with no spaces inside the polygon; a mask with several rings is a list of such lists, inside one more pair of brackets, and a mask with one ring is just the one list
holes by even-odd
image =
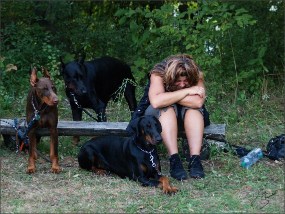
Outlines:
{"label": "log support under the bench, behind the woman's lower legs", "polygon": [[[210,156],[210,153],[211,147],[209,143],[203,138],[203,143],[200,151],[201,160],[207,160]],[[189,145],[186,137],[182,137],[182,156],[183,158],[186,158],[186,161],[190,161]]]}

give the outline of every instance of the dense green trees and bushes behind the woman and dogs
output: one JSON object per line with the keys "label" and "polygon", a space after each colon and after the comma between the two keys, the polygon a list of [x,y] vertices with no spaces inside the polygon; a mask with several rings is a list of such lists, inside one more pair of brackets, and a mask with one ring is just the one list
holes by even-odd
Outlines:
{"label": "dense green trees and bushes behind the woman and dogs", "polygon": [[[70,62],[84,52],[87,60],[109,55],[129,64],[140,92],[138,101],[146,74],[156,63],[177,53],[192,55],[203,69],[213,123],[239,123],[242,116],[236,107],[248,106],[250,99],[255,104],[263,97],[273,99],[272,88],[283,83],[283,1],[0,4],[1,54],[6,58],[1,63],[4,113],[13,108],[24,116],[33,66],[39,75],[41,66],[48,69],[63,101],[59,55]],[[10,64],[17,70],[7,71]],[[228,111],[223,113],[219,106],[226,100]]]}

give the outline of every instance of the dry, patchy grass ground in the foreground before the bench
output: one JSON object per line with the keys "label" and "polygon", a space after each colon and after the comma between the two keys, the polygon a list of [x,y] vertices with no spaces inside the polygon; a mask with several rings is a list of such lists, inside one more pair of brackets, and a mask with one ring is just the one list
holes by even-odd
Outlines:
{"label": "dry, patchy grass ground in the foreground before the bench", "polygon": [[[94,175],[78,168],[77,158],[73,156],[64,156],[60,163],[74,167],[62,167],[60,174],[52,174],[51,163],[40,157],[36,162],[37,174],[26,175],[28,154],[16,155],[15,151],[2,147],[1,213],[283,213],[284,210],[284,163],[276,164],[266,158],[245,170],[239,166],[238,158],[220,153],[203,161],[205,178],[177,181],[170,177],[169,163],[162,154],[162,173],[180,190],[173,196],[114,174]],[[184,168],[187,164],[184,162]],[[262,178],[264,174],[266,179]],[[250,204],[260,189],[274,194],[259,210],[263,200]]]}

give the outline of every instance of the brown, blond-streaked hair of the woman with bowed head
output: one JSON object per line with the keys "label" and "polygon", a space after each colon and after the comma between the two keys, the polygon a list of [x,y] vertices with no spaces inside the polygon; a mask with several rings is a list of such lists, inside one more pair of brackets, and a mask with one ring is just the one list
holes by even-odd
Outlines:
{"label": "brown, blond-streaked hair of the woman with bowed head", "polygon": [[156,74],[163,79],[165,91],[176,90],[175,82],[179,77],[186,77],[190,86],[195,86],[200,80],[200,69],[188,54],[178,54],[170,56],[166,62],[158,63],[151,70],[151,74]]}

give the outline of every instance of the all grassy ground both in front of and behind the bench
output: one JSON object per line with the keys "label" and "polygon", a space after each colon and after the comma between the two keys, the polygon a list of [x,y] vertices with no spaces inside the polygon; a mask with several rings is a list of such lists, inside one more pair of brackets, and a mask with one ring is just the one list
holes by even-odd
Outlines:
{"label": "all grassy ground both in front of and behind the bench", "polygon": [[[143,90],[138,91],[137,97],[141,97]],[[65,97],[63,91],[58,93]],[[284,87],[271,89],[269,99],[246,95],[246,101],[235,104],[230,94],[208,100],[211,122],[226,124],[229,143],[265,150],[271,137],[284,132]],[[219,95],[210,92],[208,96]],[[108,121],[129,121],[127,104],[124,99],[119,100],[108,103]],[[23,116],[15,109],[19,106],[2,111],[1,117]],[[72,120],[64,99],[59,104],[59,115],[60,120]],[[87,115],[83,120],[93,121]],[[284,213],[284,161],[262,158],[245,169],[231,152],[216,150],[202,161],[203,179],[189,177],[177,181],[169,174],[168,156],[162,144],[157,147],[161,171],[179,189],[177,195],[165,196],[159,188],[145,187],[114,174],[101,177],[79,168],[78,151],[89,139],[81,137],[79,145],[71,149],[72,137],[59,137],[60,163],[74,167],[61,167],[59,174],[52,174],[51,163],[39,157],[37,174],[27,175],[28,154],[16,155],[1,138],[1,213]],[[42,137],[38,150],[49,156],[49,137]],[[179,151],[181,154],[181,144]],[[183,165],[186,169],[188,162],[183,160]]]}

